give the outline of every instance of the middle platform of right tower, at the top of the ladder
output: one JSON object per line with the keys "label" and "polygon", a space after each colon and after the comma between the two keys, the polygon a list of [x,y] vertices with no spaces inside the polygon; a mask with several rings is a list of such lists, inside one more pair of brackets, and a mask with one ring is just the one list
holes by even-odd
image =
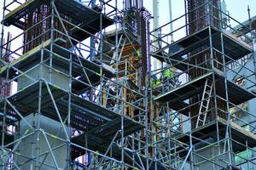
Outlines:
{"label": "middle platform of right tower, at the top of the ladder", "polygon": [[[154,100],[162,103],[169,102],[172,104],[169,105],[172,109],[179,111],[178,109],[183,109],[184,107],[188,106],[186,105],[186,103],[183,102],[184,100],[189,99],[197,94],[201,94],[203,92],[205,82],[207,81],[207,79],[212,79],[212,76],[215,77],[216,94],[224,98],[224,77],[219,75],[215,71],[210,71],[201,77],[184,83],[178,88],[172,89],[170,92],[160,94],[159,96],[155,97]],[[229,80],[226,81],[231,104],[239,105],[256,97],[255,94],[249,92],[245,88],[239,87],[238,85],[236,85],[236,83],[230,82]],[[188,112],[183,111],[182,113],[186,113],[185,115],[188,116]]]}

